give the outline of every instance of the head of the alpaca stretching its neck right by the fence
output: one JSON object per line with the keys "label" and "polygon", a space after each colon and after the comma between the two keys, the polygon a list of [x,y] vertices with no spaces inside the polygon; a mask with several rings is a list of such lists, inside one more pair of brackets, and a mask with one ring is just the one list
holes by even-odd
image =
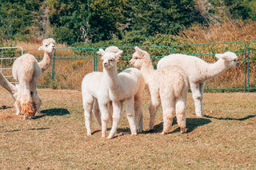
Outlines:
{"label": "head of the alpaca stretching its neck right by the fence", "polygon": [[215,57],[218,57],[219,60],[223,60],[227,68],[233,68],[239,65],[238,56],[233,52],[217,53]]}

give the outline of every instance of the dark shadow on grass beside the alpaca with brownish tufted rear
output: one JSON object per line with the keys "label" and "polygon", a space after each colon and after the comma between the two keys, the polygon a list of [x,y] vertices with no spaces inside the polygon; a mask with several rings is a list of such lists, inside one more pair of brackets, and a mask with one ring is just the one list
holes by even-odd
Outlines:
{"label": "dark shadow on grass beside the alpaca with brownish tufted rear", "polygon": [[47,109],[42,110],[40,114],[34,117],[34,119],[39,119],[41,117],[53,117],[53,116],[64,116],[66,114],[70,114],[67,109],[58,108],[58,109]]}

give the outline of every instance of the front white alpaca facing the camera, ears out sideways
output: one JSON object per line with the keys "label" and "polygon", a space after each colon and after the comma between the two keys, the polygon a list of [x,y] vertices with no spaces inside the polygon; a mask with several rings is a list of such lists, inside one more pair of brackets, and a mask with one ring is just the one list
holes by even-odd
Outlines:
{"label": "front white alpaca facing the camera, ears out sideways", "polygon": [[[108,138],[114,137],[121,119],[122,102],[126,102],[126,117],[129,121],[132,135],[137,135],[143,129],[142,97],[145,81],[138,69],[125,69],[117,73],[117,62],[121,59],[122,50],[118,53],[99,49],[102,55],[103,77],[109,88],[109,97],[113,105],[113,123]],[[103,114],[103,113],[102,113]]]}

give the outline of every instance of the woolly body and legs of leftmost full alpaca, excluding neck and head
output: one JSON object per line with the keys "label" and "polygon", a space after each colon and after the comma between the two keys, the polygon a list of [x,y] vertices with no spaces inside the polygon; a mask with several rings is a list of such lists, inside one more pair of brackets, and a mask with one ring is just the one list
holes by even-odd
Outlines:
{"label": "woolly body and legs of leftmost full alpaca, excluding neck and head", "polygon": [[37,95],[36,85],[42,71],[33,55],[26,53],[14,61],[13,76],[18,81],[17,93],[14,103],[17,114],[24,114],[27,117],[34,117],[36,105],[40,105],[40,98]]}

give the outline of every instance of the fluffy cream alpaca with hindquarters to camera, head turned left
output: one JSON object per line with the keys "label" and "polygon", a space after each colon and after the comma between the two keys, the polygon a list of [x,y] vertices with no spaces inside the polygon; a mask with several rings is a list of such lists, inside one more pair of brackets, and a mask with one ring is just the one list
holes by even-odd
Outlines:
{"label": "fluffy cream alpaca with hindquarters to camera, head turned left", "polygon": [[130,65],[141,70],[151,98],[148,130],[154,128],[154,117],[162,103],[162,134],[170,131],[175,109],[178,126],[181,128],[181,132],[186,132],[185,113],[188,81],[184,71],[175,66],[155,70],[150,54],[137,46],[134,49],[135,53],[130,60]]}

